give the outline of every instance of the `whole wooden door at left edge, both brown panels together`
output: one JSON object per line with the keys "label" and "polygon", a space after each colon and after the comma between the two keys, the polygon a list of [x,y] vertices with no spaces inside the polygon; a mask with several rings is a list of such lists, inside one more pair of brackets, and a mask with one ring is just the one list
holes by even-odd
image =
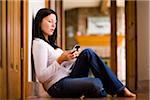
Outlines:
{"label": "whole wooden door at left edge, both brown panels together", "polygon": [[20,99],[20,1],[0,1],[0,8],[0,99]]}

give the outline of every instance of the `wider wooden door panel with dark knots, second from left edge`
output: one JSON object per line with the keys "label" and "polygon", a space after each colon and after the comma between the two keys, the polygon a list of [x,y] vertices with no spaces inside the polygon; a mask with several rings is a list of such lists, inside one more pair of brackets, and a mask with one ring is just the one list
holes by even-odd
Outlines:
{"label": "wider wooden door panel with dark knots, second from left edge", "polygon": [[7,74],[8,97],[21,98],[21,62],[20,62],[20,1],[7,2]]}

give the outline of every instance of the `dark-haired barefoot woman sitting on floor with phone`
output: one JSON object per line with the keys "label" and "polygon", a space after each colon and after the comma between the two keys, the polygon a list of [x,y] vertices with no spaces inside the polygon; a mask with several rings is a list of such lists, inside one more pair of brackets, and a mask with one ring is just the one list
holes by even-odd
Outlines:
{"label": "dark-haired barefoot woman sitting on floor with phone", "polygon": [[[32,53],[35,72],[52,97],[135,97],[91,49],[63,51],[56,44],[57,14],[40,9],[33,26]],[[89,69],[94,78],[88,77]]]}

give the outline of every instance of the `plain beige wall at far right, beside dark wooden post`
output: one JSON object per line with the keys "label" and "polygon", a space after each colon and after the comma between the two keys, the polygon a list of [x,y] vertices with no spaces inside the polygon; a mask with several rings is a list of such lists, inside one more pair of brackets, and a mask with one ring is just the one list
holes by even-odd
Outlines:
{"label": "plain beige wall at far right, beside dark wooden post", "polygon": [[150,72],[150,1],[137,1],[138,80],[149,80]]}

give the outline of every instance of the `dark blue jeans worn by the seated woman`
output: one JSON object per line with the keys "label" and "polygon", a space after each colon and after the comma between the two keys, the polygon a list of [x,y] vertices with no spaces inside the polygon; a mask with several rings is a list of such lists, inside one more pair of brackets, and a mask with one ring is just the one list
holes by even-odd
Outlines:
{"label": "dark blue jeans worn by the seated woman", "polygon": [[[88,77],[89,70],[94,78]],[[83,50],[72,66],[70,76],[52,85],[48,93],[52,97],[105,97],[121,92],[125,86],[110,68],[91,49]]]}

